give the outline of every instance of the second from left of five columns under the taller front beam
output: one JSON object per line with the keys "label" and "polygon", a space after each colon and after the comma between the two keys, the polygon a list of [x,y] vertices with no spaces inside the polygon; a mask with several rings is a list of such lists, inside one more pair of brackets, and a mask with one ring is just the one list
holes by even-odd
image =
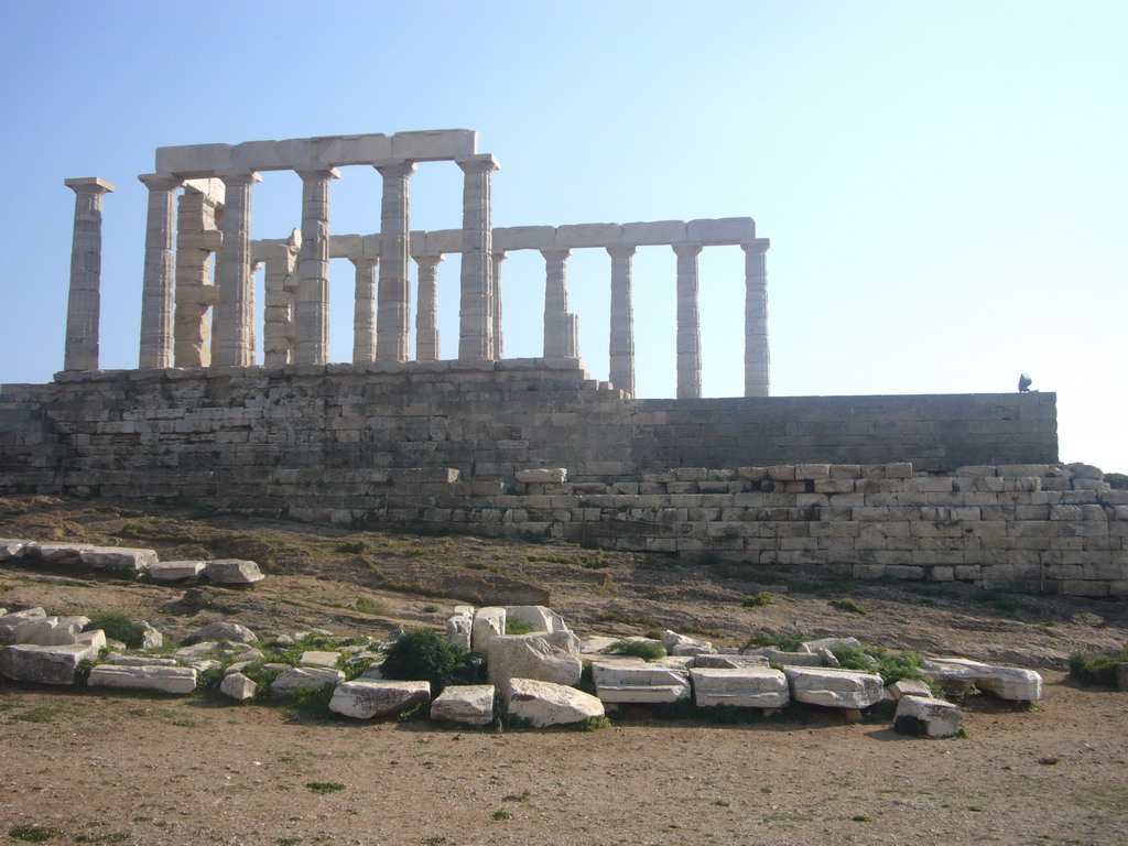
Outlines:
{"label": "second from left of five columns under the taller front beam", "polygon": [[248,171],[220,174],[227,195],[223,244],[215,266],[219,305],[214,311],[212,364],[249,367],[255,363],[255,285],[250,266],[250,186]]}

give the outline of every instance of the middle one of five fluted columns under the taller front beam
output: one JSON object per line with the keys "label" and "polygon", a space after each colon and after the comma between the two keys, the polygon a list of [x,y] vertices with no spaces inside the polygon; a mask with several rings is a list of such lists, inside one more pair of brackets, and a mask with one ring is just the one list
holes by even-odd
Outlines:
{"label": "middle one of five fluted columns under the taller front beam", "polygon": [[299,170],[301,177],[301,252],[293,303],[294,362],[329,360],[329,182],[337,171]]}

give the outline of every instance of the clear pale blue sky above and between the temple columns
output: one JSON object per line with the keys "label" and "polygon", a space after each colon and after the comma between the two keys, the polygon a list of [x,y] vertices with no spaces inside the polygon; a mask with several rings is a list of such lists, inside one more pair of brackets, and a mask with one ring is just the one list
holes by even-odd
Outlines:
{"label": "clear pale blue sky above and between the temple columns", "polygon": [[[1058,393],[1063,460],[1128,470],[1128,3],[15,2],[2,9],[0,382],[62,367],[73,195],[106,197],[102,363],[135,367],[157,147],[466,127],[495,226],[750,215],[768,254],[773,393]],[[299,222],[291,174],[256,238]],[[457,227],[460,173],[420,167],[413,228]],[[342,170],[331,228],[379,228]],[[443,353],[457,258],[441,265]],[[635,262],[638,387],[671,396],[673,255]],[[742,262],[702,256],[704,386],[742,390]],[[609,259],[570,262],[593,376]],[[540,351],[539,256],[504,265],[509,355]],[[335,360],[351,266],[334,262]]]}

